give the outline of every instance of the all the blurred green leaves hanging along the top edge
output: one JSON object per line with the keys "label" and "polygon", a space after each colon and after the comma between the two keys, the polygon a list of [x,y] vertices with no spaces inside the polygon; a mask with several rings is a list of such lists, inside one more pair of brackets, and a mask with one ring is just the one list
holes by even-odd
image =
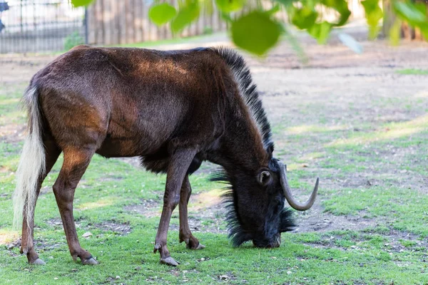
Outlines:
{"label": "all the blurred green leaves hanging along the top edge", "polygon": [[[74,6],[88,5],[93,0],[72,0]],[[207,14],[213,13],[213,3],[221,11],[221,16],[230,23],[230,32],[233,42],[240,48],[258,56],[265,54],[275,43],[279,41],[280,34],[285,28],[280,26],[273,16],[285,8],[290,19],[290,24],[302,30],[306,30],[317,42],[326,43],[332,28],[343,26],[351,15],[347,0],[274,0],[277,2],[270,10],[265,10],[260,1],[248,14],[243,14],[233,19],[233,12],[243,11],[246,0],[180,0],[179,11],[170,4],[155,4],[148,14],[153,23],[158,26],[171,23],[173,33],[179,33],[186,26],[198,19],[203,5],[203,11]],[[369,37],[374,39],[379,33],[379,21],[382,19],[383,11],[379,6],[379,0],[362,1],[367,24],[370,28]],[[427,7],[424,3],[414,4],[411,0],[392,1],[394,13],[400,20],[409,22],[410,25],[421,29],[425,38],[428,38],[428,16]],[[333,9],[340,15],[336,22],[328,22],[322,19],[322,9]],[[399,42],[401,21],[397,20],[389,32],[393,44]],[[245,26],[244,26],[245,24]],[[261,26],[258,26],[261,25]],[[272,28],[272,31],[267,29]],[[262,31],[263,30],[263,31]],[[285,35],[286,38],[287,35]],[[355,50],[355,48],[353,48]],[[360,51],[360,49],[358,49]]]}

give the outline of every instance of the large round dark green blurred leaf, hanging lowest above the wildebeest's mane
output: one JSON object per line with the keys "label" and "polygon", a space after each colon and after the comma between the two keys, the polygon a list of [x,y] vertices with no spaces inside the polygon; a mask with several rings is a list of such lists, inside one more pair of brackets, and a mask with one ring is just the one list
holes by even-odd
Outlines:
{"label": "large round dark green blurred leaf, hanging lowest above the wildebeest's mane", "polygon": [[236,46],[262,56],[280,38],[281,27],[263,11],[252,11],[233,21],[230,28]]}

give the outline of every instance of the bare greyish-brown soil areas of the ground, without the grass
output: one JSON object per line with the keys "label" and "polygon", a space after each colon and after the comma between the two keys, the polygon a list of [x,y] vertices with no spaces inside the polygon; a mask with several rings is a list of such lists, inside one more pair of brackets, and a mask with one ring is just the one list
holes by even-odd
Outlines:
{"label": "bare greyish-brown soil areas of the ground, without the grass", "polygon": [[[307,58],[309,58],[308,63],[302,63],[287,43],[282,43],[262,60],[246,56],[272,125],[282,124],[285,125],[285,128],[317,125],[320,120],[319,114],[314,113],[317,108],[322,113],[322,120],[329,122],[332,128],[355,132],[360,130],[356,129],[352,122],[399,123],[424,115],[428,108],[426,105],[406,111],[400,105],[394,108],[389,104],[384,108],[384,101],[410,98],[411,102],[415,102],[417,98],[428,97],[427,78],[399,76],[396,73],[400,68],[427,68],[428,44],[404,42],[400,46],[392,47],[386,41],[365,41],[365,32],[356,31],[354,36],[361,41],[364,47],[365,51],[361,55],[342,46],[333,35],[332,40],[326,46],[317,46],[315,41],[307,37],[300,38]],[[210,45],[216,45],[216,42],[189,43],[178,47],[170,46],[170,48]],[[165,48],[165,46],[161,48]],[[8,71],[0,73],[1,88],[10,88],[16,84],[26,85],[36,71],[54,58],[55,56],[46,55],[0,56],[2,70]],[[305,111],[306,109],[311,112]],[[378,131],[382,133],[388,130]],[[21,140],[23,132],[24,126],[22,125],[0,125],[0,140],[16,142]],[[292,131],[288,129],[285,133],[287,132]],[[302,133],[307,134],[307,140],[314,139],[310,132],[303,131]],[[285,150],[279,155],[285,161],[296,155],[323,152],[327,143],[331,142],[328,140],[329,138],[326,141],[313,141],[312,143],[293,142],[283,138],[283,135],[283,132],[275,133],[275,141],[277,150]],[[392,154],[390,151],[387,154],[391,155],[389,159],[398,160],[400,156],[411,151],[396,149]],[[137,158],[127,158],[125,161],[139,167]],[[310,173],[314,173],[313,180],[315,181],[315,174],[320,169],[317,161],[314,160],[307,166]],[[370,165],[367,166],[370,167]],[[333,175],[337,173],[337,170],[331,171]],[[332,179],[322,182],[322,185],[323,187],[370,187],[372,184],[382,183],[380,180],[370,179],[372,171],[375,171],[374,167],[369,168],[367,172],[357,172],[356,175],[347,177],[346,180]],[[382,169],[382,172],[386,172],[384,175],[402,175],[402,179],[406,181],[407,185],[420,189],[427,185],[427,177],[423,175],[414,177],[399,171],[394,168],[394,165],[385,166]],[[299,199],[304,198],[299,197]],[[323,198],[320,197],[320,199]],[[223,221],[224,209],[220,204],[220,199],[199,207],[197,201],[198,196],[192,197],[190,201],[190,225],[193,231],[223,232],[220,224]],[[138,212],[147,217],[158,216],[160,209],[160,204],[155,201],[142,201],[140,204],[126,207],[128,211]],[[206,219],[212,220],[213,223],[202,224],[202,221]],[[378,222],[376,219],[364,217],[334,216],[324,212],[320,202],[317,202],[310,212],[298,216],[299,227],[296,232],[365,229],[376,226]],[[113,231],[116,231],[116,226],[125,227],[116,224],[98,226]],[[173,225],[173,227],[177,226]],[[128,229],[125,227],[117,229],[117,231],[123,233]]]}

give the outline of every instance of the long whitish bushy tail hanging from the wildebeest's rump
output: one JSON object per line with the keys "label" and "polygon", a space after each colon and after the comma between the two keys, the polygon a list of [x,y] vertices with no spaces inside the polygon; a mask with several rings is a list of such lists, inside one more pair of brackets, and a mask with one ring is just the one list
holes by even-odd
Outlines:
{"label": "long whitish bushy tail hanging from the wildebeest's rump", "polygon": [[27,224],[32,224],[36,187],[39,176],[45,171],[45,150],[41,138],[41,113],[39,94],[36,87],[29,86],[24,93],[24,108],[28,115],[27,136],[16,170],[16,189],[14,200],[14,227],[19,227],[26,208]]}

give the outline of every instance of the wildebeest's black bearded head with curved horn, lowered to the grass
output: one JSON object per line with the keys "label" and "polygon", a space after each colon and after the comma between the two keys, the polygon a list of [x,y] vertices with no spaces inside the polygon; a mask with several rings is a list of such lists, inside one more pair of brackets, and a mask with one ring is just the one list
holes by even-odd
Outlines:
{"label": "wildebeest's black bearded head with curved horn, lowered to the grass", "polygon": [[253,175],[237,171],[222,178],[231,185],[226,195],[231,242],[239,246],[252,240],[256,247],[280,246],[281,233],[295,226],[290,209],[285,208],[285,200],[294,209],[309,209],[315,202],[319,181],[317,179],[307,202],[300,204],[292,197],[286,166],[275,158],[268,167]]}

